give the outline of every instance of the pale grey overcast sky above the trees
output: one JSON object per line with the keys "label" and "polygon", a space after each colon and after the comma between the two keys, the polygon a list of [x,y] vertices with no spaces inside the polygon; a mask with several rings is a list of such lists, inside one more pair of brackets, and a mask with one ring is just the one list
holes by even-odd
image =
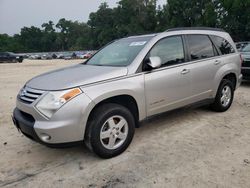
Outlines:
{"label": "pale grey overcast sky above the trees", "polygon": [[[110,7],[119,0],[106,0]],[[87,22],[89,13],[95,12],[105,0],[0,0],[0,34],[20,33],[22,27],[41,25],[60,18]],[[164,4],[166,0],[158,0]]]}

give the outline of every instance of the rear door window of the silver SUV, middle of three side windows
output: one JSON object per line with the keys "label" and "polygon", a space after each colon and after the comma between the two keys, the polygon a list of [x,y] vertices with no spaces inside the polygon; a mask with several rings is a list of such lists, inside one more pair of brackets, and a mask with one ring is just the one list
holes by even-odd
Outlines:
{"label": "rear door window of the silver SUV, middle of three side windows", "polygon": [[215,56],[215,49],[207,35],[187,35],[191,60]]}

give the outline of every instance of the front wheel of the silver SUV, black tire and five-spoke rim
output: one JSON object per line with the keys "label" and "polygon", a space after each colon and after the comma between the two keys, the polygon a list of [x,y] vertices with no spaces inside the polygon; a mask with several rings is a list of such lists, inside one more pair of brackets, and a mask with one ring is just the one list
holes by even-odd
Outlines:
{"label": "front wheel of the silver SUV, black tire and five-spoke rim", "polygon": [[90,117],[85,133],[86,146],[101,158],[112,158],[124,152],[135,131],[132,113],[119,104],[103,104]]}

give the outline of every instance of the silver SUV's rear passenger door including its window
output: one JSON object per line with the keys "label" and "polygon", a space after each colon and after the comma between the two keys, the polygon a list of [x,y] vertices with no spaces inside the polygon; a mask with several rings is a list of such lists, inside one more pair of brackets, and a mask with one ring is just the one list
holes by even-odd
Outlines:
{"label": "silver SUV's rear passenger door including its window", "polygon": [[218,51],[208,35],[186,35],[191,65],[192,102],[212,97],[214,77],[221,66]]}

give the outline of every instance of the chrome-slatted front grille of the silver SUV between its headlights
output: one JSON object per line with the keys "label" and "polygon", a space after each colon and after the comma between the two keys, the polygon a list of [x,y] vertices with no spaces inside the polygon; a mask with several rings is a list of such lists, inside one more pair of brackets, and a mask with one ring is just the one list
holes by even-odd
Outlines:
{"label": "chrome-slatted front grille of the silver SUV between its headlights", "polygon": [[43,93],[44,93],[44,91],[41,91],[41,90],[36,90],[36,89],[24,87],[20,91],[19,99],[21,99],[25,103],[31,104],[36,99],[38,99]]}

